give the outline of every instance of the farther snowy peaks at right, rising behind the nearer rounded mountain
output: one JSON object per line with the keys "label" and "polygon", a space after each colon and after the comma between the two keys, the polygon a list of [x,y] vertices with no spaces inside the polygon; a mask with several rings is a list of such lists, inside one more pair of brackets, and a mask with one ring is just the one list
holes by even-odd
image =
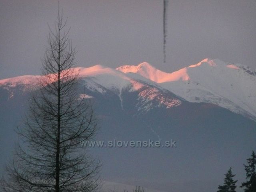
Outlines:
{"label": "farther snowy peaks at right, rising behind the nearer rounded mountain", "polygon": [[256,72],[247,66],[204,59],[172,73],[145,63],[116,70],[139,74],[189,102],[216,104],[256,119]]}

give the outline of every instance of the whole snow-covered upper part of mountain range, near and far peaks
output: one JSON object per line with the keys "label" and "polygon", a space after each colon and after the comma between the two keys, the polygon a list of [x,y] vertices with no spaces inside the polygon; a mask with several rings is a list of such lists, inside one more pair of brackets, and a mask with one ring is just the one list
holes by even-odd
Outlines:
{"label": "whole snow-covered upper part of mountain range, near and far peaks", "polygon": [[[163,94],[158,92],[168,90],[188,102],[215,104],[256,120],[256,89],[253,89],[256,72],[244,65],[206,58],[198,64],[171,73],[158,70],[147,62],[116,69],[102,65],[77,67],[74,71],[79,73],[90,90],[101,94],[111,90],[120,100],[124,90],[133,92],[149,85],[147,91],[139,94],[145,102],[158,98],[161,104],[172,106],[172,102],[166,102],[169,98],[164,99]],[[27,75],[3,79],[0,80],[0,86],[6,89],[17,85],[32,88],[40,77]],[[176,103],[180,102],[177,100]]]}

